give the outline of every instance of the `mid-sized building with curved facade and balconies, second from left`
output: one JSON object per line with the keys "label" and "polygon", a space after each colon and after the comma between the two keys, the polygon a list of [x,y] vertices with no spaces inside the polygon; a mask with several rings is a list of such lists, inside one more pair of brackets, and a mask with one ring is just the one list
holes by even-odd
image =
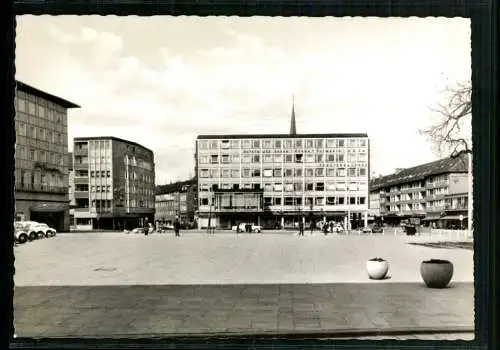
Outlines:
{"label": "mid-sized building with curved facade and balconies, second from left", "polygon": [[153,152],[116,137],[74,139],[75,224],[131,229],[154,220]]}

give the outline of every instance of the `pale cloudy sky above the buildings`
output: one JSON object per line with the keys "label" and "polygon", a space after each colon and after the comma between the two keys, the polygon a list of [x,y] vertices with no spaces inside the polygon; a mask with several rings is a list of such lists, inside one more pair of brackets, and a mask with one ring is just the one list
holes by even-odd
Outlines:
{"label": "pale cloudy sky above the buildings", "polygon": [[471,75],[470,22],[445,18],[22,16],[16,78],[82,106],[78,136],[155,152],[158,184],[193,175],[198,134],[366,132],[371,168],[436,159],[418,129]]}

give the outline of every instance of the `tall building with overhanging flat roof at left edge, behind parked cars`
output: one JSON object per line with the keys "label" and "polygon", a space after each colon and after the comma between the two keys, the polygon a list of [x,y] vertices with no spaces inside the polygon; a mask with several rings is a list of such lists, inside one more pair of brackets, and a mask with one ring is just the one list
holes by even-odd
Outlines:
{"label": "tall building with overhanging flat roof at left edge, behind parked cars", "polygon": [[68,109],[78,105],[17,82],[16,220],[69,229]]}

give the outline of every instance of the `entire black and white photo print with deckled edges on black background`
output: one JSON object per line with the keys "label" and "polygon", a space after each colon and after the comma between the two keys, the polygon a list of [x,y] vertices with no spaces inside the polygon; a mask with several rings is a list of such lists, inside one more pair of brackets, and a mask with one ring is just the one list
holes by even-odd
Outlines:
{"label": "entire black and white photo print with deckled edges on black background", "polygon": [[469,19],[16,21],[16,337],[474,339]]}

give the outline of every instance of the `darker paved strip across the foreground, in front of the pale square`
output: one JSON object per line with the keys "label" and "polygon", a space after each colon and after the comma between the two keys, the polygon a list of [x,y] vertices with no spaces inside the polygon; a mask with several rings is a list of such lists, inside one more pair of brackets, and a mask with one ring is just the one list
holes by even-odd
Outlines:
{"label": "darker paved strip across the foreground, in front of the pale square", "polygon": [[472,283],[441,290],[416,283],[16,287],[14,322],[19,337],[461,333],[473,331],[473,294]]}

